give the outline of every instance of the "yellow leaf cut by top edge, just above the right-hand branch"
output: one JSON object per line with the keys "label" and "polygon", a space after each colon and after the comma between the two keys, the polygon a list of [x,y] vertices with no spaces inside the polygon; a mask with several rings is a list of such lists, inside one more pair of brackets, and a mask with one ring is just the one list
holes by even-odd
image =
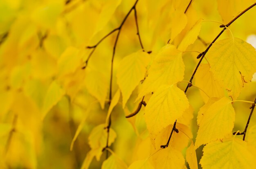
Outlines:
{"label": "yellow leaf cut by top edge, just above the right-hand branch", "polygon": [[253,0],[217,0],[218,11],[224,24],[230,22],[239,13],[254,3]]}

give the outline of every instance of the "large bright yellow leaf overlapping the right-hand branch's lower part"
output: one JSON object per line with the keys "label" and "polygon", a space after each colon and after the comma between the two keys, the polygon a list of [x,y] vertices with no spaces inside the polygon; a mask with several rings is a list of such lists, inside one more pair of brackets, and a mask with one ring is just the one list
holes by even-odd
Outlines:
{"label": "large bright yellow leaf overlapping the right-hand branch's lower part", "polygon": [[189,101],[175,85],[162,85],[153,94],[145,108],[145,121],[153,137],[171,125],[189,108]]}

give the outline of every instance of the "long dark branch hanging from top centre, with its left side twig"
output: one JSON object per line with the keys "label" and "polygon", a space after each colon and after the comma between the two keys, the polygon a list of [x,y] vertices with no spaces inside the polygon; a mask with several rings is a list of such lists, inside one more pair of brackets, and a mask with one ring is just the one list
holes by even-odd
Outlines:
{"label": "long dark branch hanging from top centre, with its left side twig", "polygon": [[[118,31],[117,33],[117,37],[116,37],[116,40],[115,40],[115,44],[114,44],[114,47],[113,47],[113,53],[112,53],[112,59],[111,59],[111,71],[110,71],[110,91],[109,91],[109,105],[111,103],[111,100],[112,100],[112,79],[113,79],[113,64],[114,64],[114,57],[115,57],[115,52],[116,52],[116,47],[117,47],[117,42],[118,42],[118,39],[119,39],[119,35],[120,35],[120,32],[121,32],[121,28],[123,27],[124,25],[124,22],[126,21],[126,19],[128,18],[128,16],[130,15],[130,13],[132,12],[132,10],[135,10],[135,6],[137,4],[139,0],[136,0],[134,5],[132,6],[132,8],[128,11],[128,13],[126,14],[126,16],[124,17],[124,20],[121,22],[120,26],[116,29],[114,29],[113,31],[111,31],[110,33],[108,33],[108,35],[112,34],[113,32],[115,31]],[[103,39],[101,39],[97,44],[96,46],[92,46],[92,48],[96,48],[97,45],[99,43],[101,43],[102,40],[104,40],[106,37],[108,37],[108,35],[106,35],[105,37],[103,37]],[[87,64],[88,60],[86,61],[86,64]],[[110,114],[110,117],[109,117],[109,121],[108,121],[108,126],[106,127],[107,128],[107,144],[106,144],[106,148],[108,147],[108,140],[109,140],[109,130],[110,130],[110,126],[111,126],[111,114]],[[105,149],[106,149],[105,148]],[[108,151],[106,151],[106,158],[108,158]]]}

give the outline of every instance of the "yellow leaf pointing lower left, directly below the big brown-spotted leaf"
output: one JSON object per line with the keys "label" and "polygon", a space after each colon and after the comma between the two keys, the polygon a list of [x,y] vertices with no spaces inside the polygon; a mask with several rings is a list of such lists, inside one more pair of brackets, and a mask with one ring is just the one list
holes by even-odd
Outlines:
{"label": "yellow leaf pointing lower left, directly below the big brown-spotted leaf", "polygon": [[231,101],[226,97],[216,101],[204,112],[199,124],[195,147],[225,138],[232,132],[234,121],[235,110]]}

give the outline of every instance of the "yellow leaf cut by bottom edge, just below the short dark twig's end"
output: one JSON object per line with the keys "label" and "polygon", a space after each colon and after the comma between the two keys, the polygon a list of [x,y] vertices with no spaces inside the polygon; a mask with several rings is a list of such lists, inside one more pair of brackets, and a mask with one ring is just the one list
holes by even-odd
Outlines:
{"label": "yellow leaf cut by bottom edge, just below the short dark twig's end", "polygon": [[156,169],[181,169],[185,163],[182,153],[171,146],[161,149],[152,158]]}

